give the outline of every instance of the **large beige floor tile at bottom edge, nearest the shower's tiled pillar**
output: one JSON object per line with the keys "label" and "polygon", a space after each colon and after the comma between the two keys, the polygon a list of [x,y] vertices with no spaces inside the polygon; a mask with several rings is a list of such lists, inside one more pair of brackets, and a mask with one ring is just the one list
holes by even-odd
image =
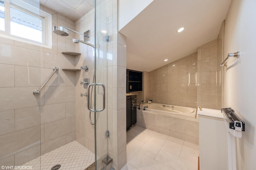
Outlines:
{"label": "large beige floor tile at bottom edge, nearest the shower's tiled pillar", "polygon": [[172,168],[137,152],[129,161],[129,164],[138,170],[173,170]]}

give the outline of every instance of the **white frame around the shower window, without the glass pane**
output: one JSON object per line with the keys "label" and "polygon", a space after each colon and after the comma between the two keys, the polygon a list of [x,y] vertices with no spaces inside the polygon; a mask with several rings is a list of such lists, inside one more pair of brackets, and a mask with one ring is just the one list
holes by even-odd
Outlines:
{"label": "white frame around the shower window, without the glass pane", "polygon": [[[5,31],[0,30],[0,37],[13,39],[32,45],[38,45],[41,47],[52,48],[52,16],[30,4],[21,2],[20,0],[12,0],[11,2],[12,4],[10,4],[9,0],[4,0]],[[42,43],[10,34],[10,7],[42,19]]]}

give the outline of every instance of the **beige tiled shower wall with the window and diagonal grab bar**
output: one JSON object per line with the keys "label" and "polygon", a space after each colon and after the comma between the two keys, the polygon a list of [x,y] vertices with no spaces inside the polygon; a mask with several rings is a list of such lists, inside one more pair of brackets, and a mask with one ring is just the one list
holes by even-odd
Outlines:
{"label": "beige tiled shower wall with the window and diagonal grab bar", "polygon": [[[74,22],[52,14],[52,25],[74,29]],[[0,164],[17,166],[75,139],[74,34],[52,34],[52,49],[0,37]],[[52,67],[60,68],[34,96]],[[41,135],[40,135],[41,134]],[[41,144],[41,147],[40,147]]]}

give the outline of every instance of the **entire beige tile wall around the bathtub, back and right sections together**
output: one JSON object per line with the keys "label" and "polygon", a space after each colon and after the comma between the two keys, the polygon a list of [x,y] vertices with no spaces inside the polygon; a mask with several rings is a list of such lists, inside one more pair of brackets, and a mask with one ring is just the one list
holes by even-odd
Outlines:
{"label": "entire beige tile wall around the bathtub, back and right sections together", "polygon": [[221,109],[222,29],[218,39],[198,47],[197,53],[149,72],[144,96],[156,103]]}

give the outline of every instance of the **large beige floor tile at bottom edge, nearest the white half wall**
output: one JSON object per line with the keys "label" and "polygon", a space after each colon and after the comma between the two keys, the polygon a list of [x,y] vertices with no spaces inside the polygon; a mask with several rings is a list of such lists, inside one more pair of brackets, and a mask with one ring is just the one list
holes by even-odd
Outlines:
{"label": "large beige floor tile at bottom edge, nearest the white half wall", "polygon": [[196,163],[181,158],[180,156],[165,150],[160,150],[155,159],[175,170],[197,170]]}

